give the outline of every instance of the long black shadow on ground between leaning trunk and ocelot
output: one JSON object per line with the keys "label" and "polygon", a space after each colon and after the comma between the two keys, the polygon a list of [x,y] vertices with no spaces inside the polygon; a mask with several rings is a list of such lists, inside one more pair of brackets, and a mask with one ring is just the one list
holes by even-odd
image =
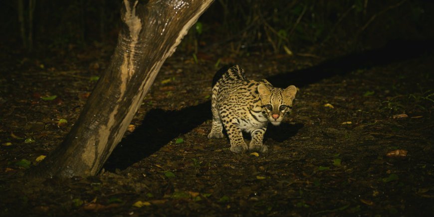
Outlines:
{"label": "long black shadow on ground between leaning trunk and ocelot", "polygon": [[124,170],[146,158],[169,143],[180,134],[187,133],[204,121],[211,119],[211,101],[187,107],[179,111],[153,109],[149,111],[142,125],[122,139],[113,150],[104,168]]}

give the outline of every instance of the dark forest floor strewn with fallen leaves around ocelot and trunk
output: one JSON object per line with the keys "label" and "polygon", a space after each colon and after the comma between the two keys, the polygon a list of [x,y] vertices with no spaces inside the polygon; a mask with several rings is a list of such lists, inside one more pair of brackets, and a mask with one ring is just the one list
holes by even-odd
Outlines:
{"label": "dark forest floor strewn with fallen leaves around ocelot and trunk", "polygon": [[[112,47],[2,52],[0,216],[431,216],[432,48],[176,52],[100,174],[42,184],[23,176],[70,130]],[[207,138],[212,78],[230,62],[248,79],[299,88],[293,112],[267,130],[267,153]]]}

